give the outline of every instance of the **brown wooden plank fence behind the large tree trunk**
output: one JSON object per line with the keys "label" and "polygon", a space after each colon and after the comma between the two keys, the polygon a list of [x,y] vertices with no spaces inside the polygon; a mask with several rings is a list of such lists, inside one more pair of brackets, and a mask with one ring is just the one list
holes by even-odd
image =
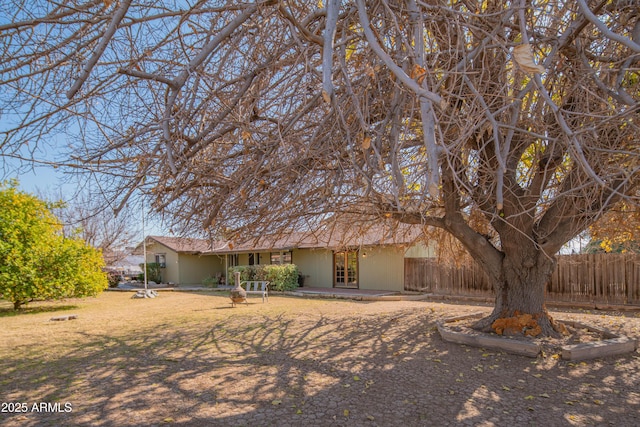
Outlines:
{"label": "brown wooden plank fence behind the large tree trunk", "polygon": [[[430,258],[405,258],[404,289],[438,295],[494,297],[476,264],[440,265]],[[547,283],[547,301],[640,305],[640,255],[558,256]]]}

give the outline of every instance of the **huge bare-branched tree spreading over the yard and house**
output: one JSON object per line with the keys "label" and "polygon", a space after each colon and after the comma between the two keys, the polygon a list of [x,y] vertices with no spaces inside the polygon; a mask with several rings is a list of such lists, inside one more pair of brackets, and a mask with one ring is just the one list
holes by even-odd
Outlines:
{"label": "huge bare-branched tree spreading over the yard and house", "polygon": [[637,1],[5,1],[2,152],[184,230],[437,227],[554,333],[554,254],[637,194]]}

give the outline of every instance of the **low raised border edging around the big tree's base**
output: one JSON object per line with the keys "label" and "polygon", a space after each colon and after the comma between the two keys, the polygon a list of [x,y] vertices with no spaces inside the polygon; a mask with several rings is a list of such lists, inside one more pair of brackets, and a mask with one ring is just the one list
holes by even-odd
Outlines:
{"label": "low raised border edging around the big tree's base", "polygon": [[[465,344],[472,347],[502,350],[507,353],[518,354],[521,356],[535,358],[538,357],[542,351],[542,346],[534,342],[527,342],[517,338],[493,336],[482,332],[468,334],[465,332],[454,331],[446,326],[447,323],[470,318],[479,318],[482,316],[484,316],[483,313],[475,313],[445,319],[437,322],[438,332],[442,339],[447,342]],[[577,361],[597,359],[601,357],[632,353],[637,348],[637,341],[624,335],[615,335],[605,329],[596,328],[579,322],[563,321],[563,323],[573,327],[584,328],[592,332],[599,332],[605,337],[605,339],[599,341],[562,346],[561,357],[564,360]]]}

